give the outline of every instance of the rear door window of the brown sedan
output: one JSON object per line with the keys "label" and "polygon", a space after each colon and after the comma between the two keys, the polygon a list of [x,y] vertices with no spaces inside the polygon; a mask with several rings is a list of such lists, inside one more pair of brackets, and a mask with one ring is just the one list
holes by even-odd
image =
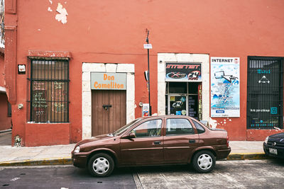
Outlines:
{"label": "rear door window of the brown sedan", "polygon": [[166,135],[195,134],[192,125],[187,119],[168,119],[166,122]]}

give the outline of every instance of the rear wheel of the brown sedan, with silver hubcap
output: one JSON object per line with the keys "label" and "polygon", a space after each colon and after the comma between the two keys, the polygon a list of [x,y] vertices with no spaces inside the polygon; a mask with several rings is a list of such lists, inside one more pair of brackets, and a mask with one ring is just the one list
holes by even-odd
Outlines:
{"label": "rear wheel of the brown sedan, with silver hubcap", "polygon": [[192,166],[195,171],[200,173],[209,173],[213,170],[216,158],[210,151],[198,151],[192,159]]}

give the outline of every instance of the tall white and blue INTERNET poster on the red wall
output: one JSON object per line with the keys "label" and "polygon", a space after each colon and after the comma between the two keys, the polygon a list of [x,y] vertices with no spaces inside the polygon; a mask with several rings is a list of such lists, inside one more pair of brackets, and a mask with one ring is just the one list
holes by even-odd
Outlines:
{"label": "tall white and blue INTERNET poster on the red wall", "polygon": [[211,57],[211,117],[240,117],[239,57]]}

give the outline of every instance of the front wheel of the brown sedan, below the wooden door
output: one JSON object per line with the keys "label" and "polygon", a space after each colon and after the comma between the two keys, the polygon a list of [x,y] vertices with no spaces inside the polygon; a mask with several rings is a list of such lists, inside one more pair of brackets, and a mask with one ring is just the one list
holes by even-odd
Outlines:
{"label": "front wheel of the brown sedan, below the wooden door", "polygon": [[88,169],[92,176],[109,176],[114,171],[114,160],[108,154],[95,154],[89,159]]}

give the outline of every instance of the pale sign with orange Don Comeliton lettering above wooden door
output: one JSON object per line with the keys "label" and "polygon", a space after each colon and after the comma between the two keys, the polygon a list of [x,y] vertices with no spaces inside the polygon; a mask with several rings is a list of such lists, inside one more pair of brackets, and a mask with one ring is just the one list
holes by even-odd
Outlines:
{"label": "pale sign with orange Don Comeliton lettering above wooden door", "polygon": [[126,74],[91,72],[91,89],[126,90]]}

